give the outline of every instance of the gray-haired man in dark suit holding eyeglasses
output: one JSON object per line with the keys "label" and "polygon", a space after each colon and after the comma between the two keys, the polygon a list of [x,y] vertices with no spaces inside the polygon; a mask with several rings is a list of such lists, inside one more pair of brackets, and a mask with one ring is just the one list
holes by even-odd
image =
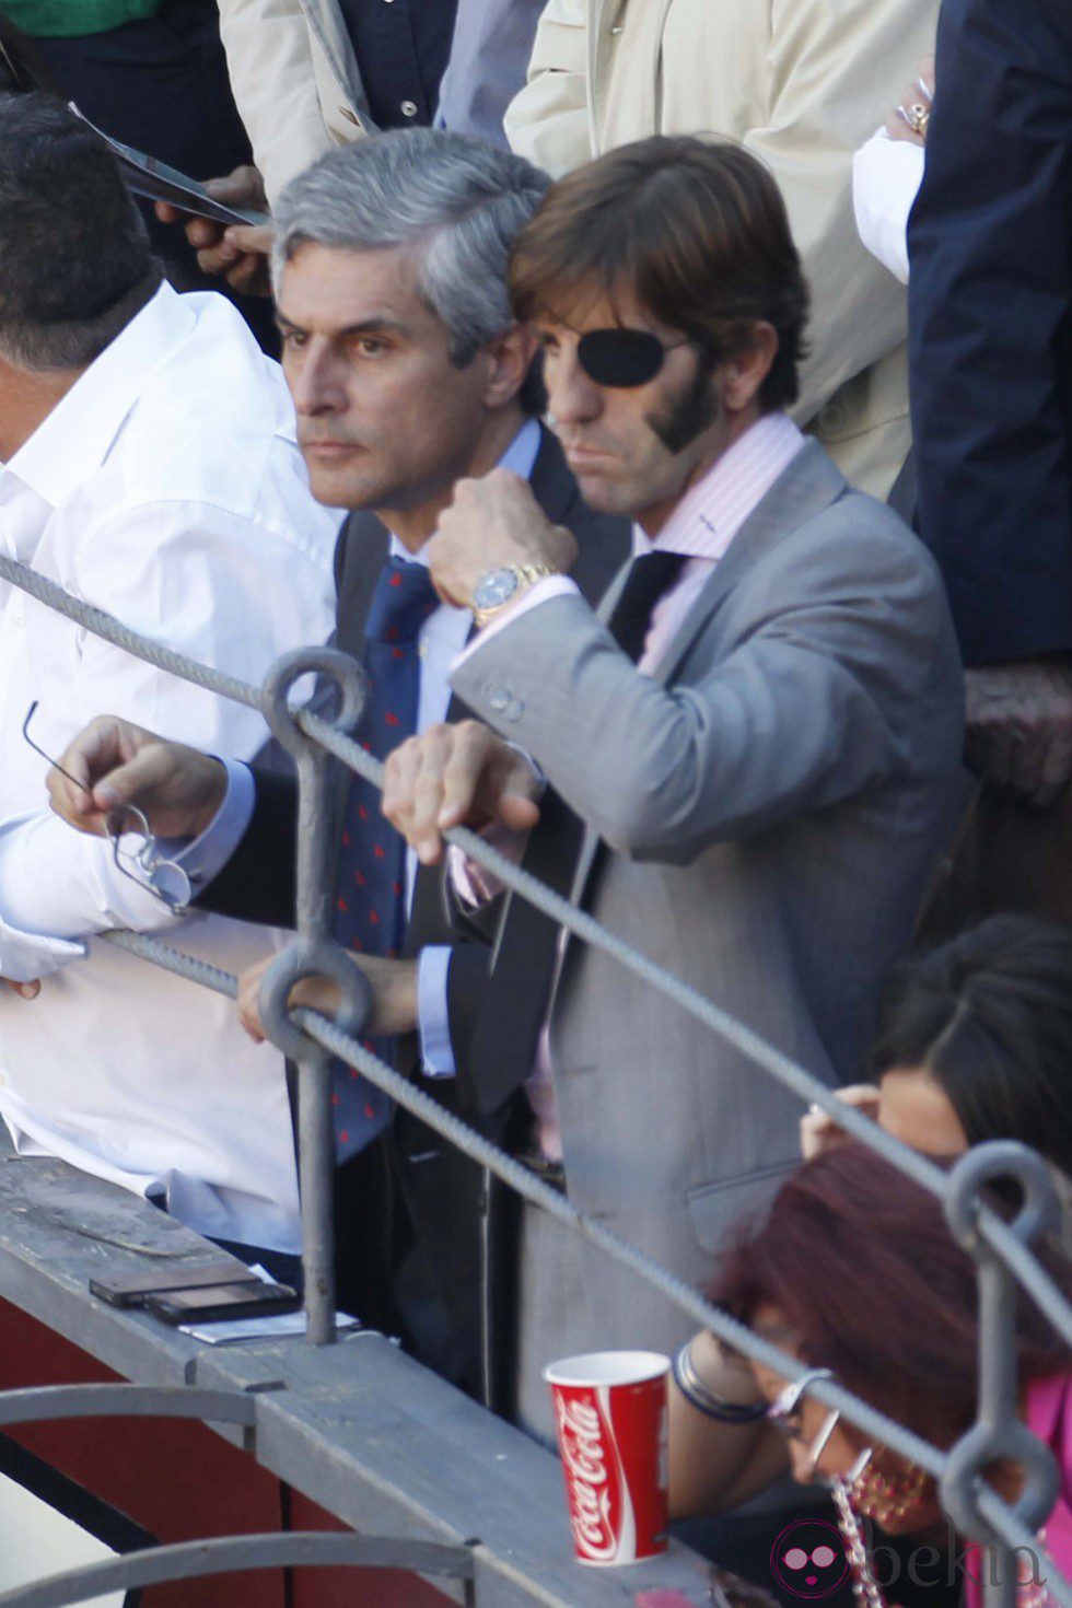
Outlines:
{"label": "gray-haired man in dark suit holding eyeglasses", "polygon": [[[447,672],[473,616],[436,597],[423,564],[460,474],[509,465],[522,476],[546,516],[583,542],[575,574],[593,598],[627,552],[625,523],[583,505],[561,447],[535,416],[535,339],[509,309],[509,246],[545,185],[508,151],[415,129],[325,156],[280,201],[283,368],[313,495],[354,510],[336,553],[336,640],[371,672],[357,735],[381,757],[407,730],[468,712]],[[410,590],[418,605],[411,629],[400,617],[386,630],[373,627],[386,600]],[[244,920],[272,912],[273,925],[293,925],[293,778],[225,769],[108,719],[76,740],[68,757],[74,775],[137,798],[159,833],[198,835],[185,867],[201,909]],[[100,828],[82,790],[64,785],[55,802],[76,825]],[[336,937],[373,987],[370,1029],[389,1040],[381,1053],[458,1105],[453,1074],[464,1069],[489,955],[482,944],[455,941],[439,876],[405,854],[376,802],[339,772]],[[262,971],[252,968],[239,994],[254,1034]],[[334,1008],[331,997],[307,999]],[[386,1206],[400,1177],[416,1233],[397,1290],[402,1317],[424,1360],[476,1388],[479,1172],[440,1151],[405,1113],[391,1132],[391,1108],[378,1090],[346,1068],[336,1073],[344,1304],[366,1320],[395,1320],[386,1298],[405,1246],[391,1237]]]}

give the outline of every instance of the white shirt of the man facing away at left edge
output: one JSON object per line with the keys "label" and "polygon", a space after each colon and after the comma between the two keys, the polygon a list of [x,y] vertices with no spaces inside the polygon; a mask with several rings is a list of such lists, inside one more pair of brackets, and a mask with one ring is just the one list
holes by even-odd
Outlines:
{"label": "white shirt of the man facing away at left edge", "polygon": [[[148,637],[248,682],[325,640],[339,513],[313,502],[278,365],[222,296],[164,285],[0,470],[3,552]],[[164,931],[238,971],[276,939],[177,918],[113,847],[47,807],[51,757],[96,714],[252,756],[259,714],[0,589],[0,1113],[23,1155],[166,1193],[203,1233],[301,1245],[283,1058],[230,1000],[93,934]],[[85,958],[82,958],[85,957]]]}

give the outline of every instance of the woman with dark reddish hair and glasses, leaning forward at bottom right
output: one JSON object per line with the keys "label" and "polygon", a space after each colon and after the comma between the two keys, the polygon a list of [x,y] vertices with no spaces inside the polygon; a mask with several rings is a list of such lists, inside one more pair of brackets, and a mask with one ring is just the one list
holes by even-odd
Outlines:
{"label": "woman with dark reddish hair and glasses, leaning forward at bottom right", "polygon": [[[940,1203],[863,1147],[821,1155],[783,1185],[767,1222],[730,1254],[712,1299],[937,1447],[950,1447],[976,1418],[974,1262],[951,1240]],[[1062,1574],[1072,1574],[1070,1368],[1067,1348],[1022,1301],[1021,1417],[1061,1466],[1041,1540]],[[942,1521],[924,1470],[871,1446],[771,1370],[726,1354],[712,1335],[681,1348],[673,1376],[675,1516],[736,1507],[791,1470],[802,1483],[834,1484],[850,1557],[865,1518],[892,1536]],[[998,1466],[993,1484],[1009,1499],[1017,1494],[1013,1470]],[[966,1566],[969,1602],[979,1561]],[[878,1608],[866,1565],[858,1584]],[[1024,1608],[1041,1602],[1032,1590],[1025,1584]]]}

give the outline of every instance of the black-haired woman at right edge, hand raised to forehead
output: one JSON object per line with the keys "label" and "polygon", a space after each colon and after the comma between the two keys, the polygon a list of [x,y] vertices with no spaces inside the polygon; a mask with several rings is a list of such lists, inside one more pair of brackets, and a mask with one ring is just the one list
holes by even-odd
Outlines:
{"label": "black-haired woman at right edge, hand raised to forehead", "polygon": [[[1051,1164],[1072,1245],[1072,928],[998,915],[905,962],[890,978],[873,1084],[842,1098],[931,1156],[1017,1138]],[[841,1142],[802,1121],[805,1158]]]}

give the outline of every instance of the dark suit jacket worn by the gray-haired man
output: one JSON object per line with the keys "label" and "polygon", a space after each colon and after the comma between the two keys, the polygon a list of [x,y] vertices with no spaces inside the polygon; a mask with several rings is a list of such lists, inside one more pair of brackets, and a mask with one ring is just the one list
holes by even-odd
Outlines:
{"label": "dark suit jacket worn by the gray-haired man", "polygon": [[[595,515],[585,507],[563,452],[548,431],[542,433],[530,484],[548,518],[567,526],[577,537],[579,556],[572,574],[585,597],[598,600],[628,556],[627,521]],[[336,643],[358,659],[365,646],[363,626],[368,605],[387,548],[389,535],[379,519],[370,513],[350,515],[336,548],[339,598]],[[460,720],[468,714],[469,709],[458,698],[452,698],[447,719]],[[249,828],[228,865],[196,902],[219,915],[268,926],[293,926],[296,785],[289,775],[260,767],[254,767],[254,777],[257,801]],[[346,793],[346,781],[347,773],[339,767],[339,798]],[[440,873],[419,868],[407,929],[407,952],[416,955],[428,944],[450,944],[453,949],[447,1003],[460,1079],[426,1081],[423,1087],[466,1119],[477,1121],[489,1137],[501,1140],[511,1113],[487,1110],[485,1101],[473,1097],[464,1079],[469,1042],[487,1003],[485,982],[492,952],[476,937],[460,939],[447,917]],[[542,997],[527,1003],[530,1018],[538,1021]],[[416,1071],[416,1036],[402,1040],[399,1068],[408,1074]],[[405,1111],[395,1114],[392,1150],[416,1233],[415,1249],[403,1269],[403,1282],[410,1294],[416,1290],[419,1296],[407,1302],[407,1317],[411,1328],[418,1330],[421,1319],[419,1314],[416,1317],[413,1314],[418,1307],[428,1306],[424,1291],[429,1286],[436,1290],[447,1311],[445,1325],[436,1319],[429,1322],[424,1343],[424,1338],[415,1333],[418,1351],[426,1362],[456,1383],[476,1389],[481,1354],[481,1172],[448,1145],[440,1145],[437,1135]]]}

